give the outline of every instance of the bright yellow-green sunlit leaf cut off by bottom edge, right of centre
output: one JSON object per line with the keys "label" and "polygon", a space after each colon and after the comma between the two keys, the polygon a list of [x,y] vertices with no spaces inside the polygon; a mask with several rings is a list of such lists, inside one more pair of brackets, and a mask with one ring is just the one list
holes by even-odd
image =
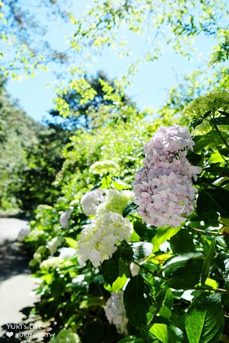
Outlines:
{"label": "bright yellow-green sunlit leaf cut off by bottom edge, right of centre", "polygon": [[152,342],[155,343],[178,343],[175,333],[165,324],[155,323],[150,329]]}

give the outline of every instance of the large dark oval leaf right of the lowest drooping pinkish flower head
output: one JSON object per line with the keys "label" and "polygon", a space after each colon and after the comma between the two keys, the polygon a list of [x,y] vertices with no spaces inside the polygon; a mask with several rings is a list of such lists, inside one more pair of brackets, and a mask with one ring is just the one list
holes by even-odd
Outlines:
{"label": "large dark oval leaf right of the lowest drooping pinkish flower head", "polygon": [[136,327],[148,325],[154,317],[157,303],[153,297],[151,284],[136,275],[127,283],[123,295],[126,317]]}

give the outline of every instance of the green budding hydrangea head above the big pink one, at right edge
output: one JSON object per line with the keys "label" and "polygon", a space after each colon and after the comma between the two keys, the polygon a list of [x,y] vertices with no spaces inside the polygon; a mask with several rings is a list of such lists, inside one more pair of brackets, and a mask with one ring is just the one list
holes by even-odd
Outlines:
{"label": "green budding hydrangea head above the big pink one, at right edge", "polygon": [[211,91],[191,101],[182,113],[188,116],[203,116],[207,111],[222,109],[229,110],[229,93],[225,91]]}

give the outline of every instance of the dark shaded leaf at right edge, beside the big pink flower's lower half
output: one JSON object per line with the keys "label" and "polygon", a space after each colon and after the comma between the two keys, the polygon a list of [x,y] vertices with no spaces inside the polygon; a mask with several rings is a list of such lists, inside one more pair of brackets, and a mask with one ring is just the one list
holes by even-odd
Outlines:
{"label": "dark shaded leaf at right edge, beside the big pink flower's lower half", "polygon": [[218,213],[229,218],[229,192],[222,189],[204,189],[197,198],[197,214],[209,225],[218,225]]}

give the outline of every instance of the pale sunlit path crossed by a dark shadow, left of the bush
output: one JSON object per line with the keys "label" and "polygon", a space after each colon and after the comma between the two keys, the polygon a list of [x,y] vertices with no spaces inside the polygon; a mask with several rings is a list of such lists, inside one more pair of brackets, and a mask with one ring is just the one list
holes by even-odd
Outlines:
{"label": "pale sunlit path crossed by a dark shadow, left of the bush", "polygon": [[[44,327],[44,324],[34,316],[30,315],[27,319],[25,316],[38,300],[31,297],[37,285],[30,278],[23,245],[16,240],[19,231],[26,225],[25,220],[0,218],[0,343],[43,341],[41,334],[44,330],[34,328]],[[25,333],[31,332],[38,334],[25,336]]]}

